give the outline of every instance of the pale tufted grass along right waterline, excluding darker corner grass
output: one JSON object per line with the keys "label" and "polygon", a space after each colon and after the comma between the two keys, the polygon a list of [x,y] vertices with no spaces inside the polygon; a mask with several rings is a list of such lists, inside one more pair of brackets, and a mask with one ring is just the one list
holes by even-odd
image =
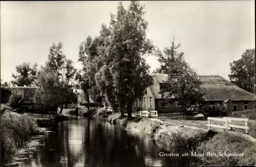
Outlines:
{"label": "pale tufted grass along right waterline, excluding darker corner grass", "polygon": [[170,125],[146,118],[126,117],[120,118],[120,114],[112,114],[108,117],[112,123],[119,123],[128,131],[150,135],[158,144],[171,147],[183,147],[190,149],[198,143],[205,141],[210,133],[202,129],[190,129],[177,125]]}

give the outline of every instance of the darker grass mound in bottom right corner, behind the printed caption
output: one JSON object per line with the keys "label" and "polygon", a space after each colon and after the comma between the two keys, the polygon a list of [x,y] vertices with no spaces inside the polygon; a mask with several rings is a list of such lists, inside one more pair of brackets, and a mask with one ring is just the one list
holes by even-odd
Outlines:
{"label": "darker grass mound in bottom right corner, behind the printed caption", "polygon": [[[254,166],[256,164],[256,144],[244,140],[243,137],[220,133],[196,148],[202,165]],[[243,156],[207,156],[209,153],[243,153]]]}

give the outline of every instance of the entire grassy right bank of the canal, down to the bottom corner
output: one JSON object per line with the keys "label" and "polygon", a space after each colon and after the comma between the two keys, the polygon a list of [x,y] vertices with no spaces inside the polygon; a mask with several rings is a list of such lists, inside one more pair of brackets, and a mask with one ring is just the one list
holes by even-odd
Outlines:
{"label": "entire grassy right bank of the canal, down to the bottom corner", "polygon": [[[248,113],[246,111],[244,113],[234,112],[232,116],[239,116],[241,118],[242,114],[246,115]],[[204,156],[196,157],[199,160],[199,165],[254,166],[256,164],[256,143],[247,141],[242,136],[203,129],[204,127],[200,126],[200,123],[201,125],[204,124],[203,121],[189,120],[189,122],[188,120],[182,120],[180,122],[180,120],[168,120],[170,123],[162,123],[147,118],[133,117],[129,119],[127,116],[120,116],[120,113],[108,115],[104,109],[99,109],[93,117],[107,119],[109,122],[118,124],[127,131],[147,134],[160,145],[179,147],[185,151],[198,154],[202,153]],[[187,126],[191,126],[191,122],[193,122],[199,128],[188,128],[187,126],[178,125],[184,122],[187,122]],[[255,131],[255,127],[251,132],[253,130]],[[240,155],[243,153],[243,156],[207,156],[207,153],[218,154],[219,152],[223,154],[236,152]]]}

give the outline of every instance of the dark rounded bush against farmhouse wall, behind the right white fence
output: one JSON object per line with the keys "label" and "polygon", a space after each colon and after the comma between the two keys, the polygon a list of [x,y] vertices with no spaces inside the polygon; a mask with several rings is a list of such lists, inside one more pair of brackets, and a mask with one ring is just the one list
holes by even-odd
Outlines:
{"label": "dark rounded bush against farmhouse wall, behind the right white fence", "polygon": [[209,105],[205,109],[204,113],[207,117],[223,117],[227,116],[227,108],[224,104],[216,103],[215,105]]}

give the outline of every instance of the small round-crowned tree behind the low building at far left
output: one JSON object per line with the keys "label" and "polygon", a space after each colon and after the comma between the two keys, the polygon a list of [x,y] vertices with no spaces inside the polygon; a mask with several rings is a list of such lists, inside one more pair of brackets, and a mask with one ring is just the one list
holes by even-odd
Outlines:
{"label": "small round-crowned tree behind the low building at far left", "polygon": [[37,64],[30,66],[30,63],[23,63],[16,66],[16,74],[12,74],[14,80],[11,81],[12,85],[27,87],[34,86],[37,77]]}

